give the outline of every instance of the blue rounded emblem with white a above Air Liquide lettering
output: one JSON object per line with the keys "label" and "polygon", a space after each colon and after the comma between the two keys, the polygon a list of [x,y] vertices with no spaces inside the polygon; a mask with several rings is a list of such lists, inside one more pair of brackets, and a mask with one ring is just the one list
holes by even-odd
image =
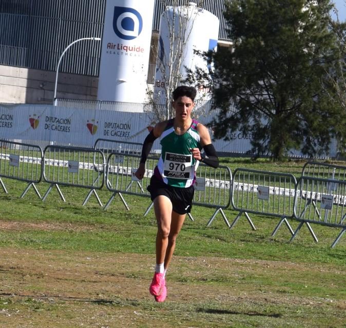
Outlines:
{"label": "blue rounded emblem with white a above Air Liquide lettering", "polygon": [[138,37],[143,28],[141,14],[128,7],[114,7],[113,30],[124,40],[132,40]]}

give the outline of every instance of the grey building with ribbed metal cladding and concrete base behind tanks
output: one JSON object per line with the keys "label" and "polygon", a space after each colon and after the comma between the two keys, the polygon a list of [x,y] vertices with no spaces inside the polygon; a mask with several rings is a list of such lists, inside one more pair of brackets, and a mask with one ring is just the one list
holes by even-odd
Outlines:
{"label": "grey building with ribbed metal cladding and concrete base behind tanks", "polygon": [[[153,84],[160,16],[174,0],[155,0],[147,83]],[[179,1],[178,5],[188,2]],[[218,46],[232,42],[224,0],[196,0],[220,20]],[[52,104],[60,56],[85,37],[102,38],[106,0],[2,0],[0,2],[0,103]],[[96,99],[101,42],[81,40],[62,58],[56,95]]]}

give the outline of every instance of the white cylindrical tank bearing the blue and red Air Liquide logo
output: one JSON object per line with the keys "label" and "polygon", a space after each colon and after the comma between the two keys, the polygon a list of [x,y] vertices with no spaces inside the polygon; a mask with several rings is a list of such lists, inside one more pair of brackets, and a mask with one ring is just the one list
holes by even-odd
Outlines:
{"label": "white cylindrical tank bearing the blue and red Air Liquide logo", "polygon": [[145,100],[154,1],[107,0],[99,100]]}

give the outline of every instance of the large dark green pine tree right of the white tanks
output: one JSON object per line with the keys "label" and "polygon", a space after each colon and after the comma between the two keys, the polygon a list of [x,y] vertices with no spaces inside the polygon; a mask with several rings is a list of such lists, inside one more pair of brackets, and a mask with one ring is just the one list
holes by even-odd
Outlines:
{"label": "large dark green pine tree right of the white tanks", "polygon": [[[281,159],[290,149],[328,151],[340,106],[322,84],[335,54],[328,0],[233,0],[225,18],[234,49],[209,53],[221,112],[214,136],[252,135],[253,151]],[[200,72],[197,79],[205,81]]]}

